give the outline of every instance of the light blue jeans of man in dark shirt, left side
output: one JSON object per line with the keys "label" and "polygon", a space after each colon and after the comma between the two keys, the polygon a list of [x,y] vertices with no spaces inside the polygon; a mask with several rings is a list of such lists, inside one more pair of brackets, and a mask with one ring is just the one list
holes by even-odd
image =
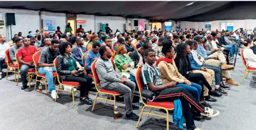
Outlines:
{"label": "light blue jeans of man in dark shirt, left side", "polygon": [[52,92],[55,90],[55,86],[53,83],[53,72],[56,72],[55,67],[40,67],[38,73],[46,75],[46,81],[48,84],[48,92]]}

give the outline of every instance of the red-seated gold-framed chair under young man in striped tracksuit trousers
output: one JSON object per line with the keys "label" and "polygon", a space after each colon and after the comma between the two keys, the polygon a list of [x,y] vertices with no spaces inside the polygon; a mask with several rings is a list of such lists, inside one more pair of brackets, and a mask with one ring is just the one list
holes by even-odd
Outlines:
{"label": "red-seated gold-framed chair under young man in striped tracksuit trousers", "polygon": [[[136,82],[137,82],[137,85],[138,85],[138,90],[140,92],[140,100],[142,101],[144,106],[141,109],[140,118],[138,119],[136,128],[138,128],[138,124],[140,123],[140,119],[141,119],[142,114],[147,114],[147,116],[152,115],[152,116],[159,116],[159,117],[166,118],[167,130],[168,130],[169,129],[169,114],[168,114],[168,110],[173,110],[174,109],[174,104],[171,101],[162,101],[162,102],[147,101],[147,103],[145,103],[143,101],[143,97],[141,95],[141,91],[143,89],[143,83],[142,83],[141,78],[140,78],[140,72],[141,72],[141,68],[138,68],[136,73],[135,73],[135,79],[136,79]],[[150,107],[149,112],[144,112],[144,108],[145,107]],[[150,113],[152,108],[164,109],[166,111],[166,115],[164,116],[164,115],[161,115],[161,114]]]}

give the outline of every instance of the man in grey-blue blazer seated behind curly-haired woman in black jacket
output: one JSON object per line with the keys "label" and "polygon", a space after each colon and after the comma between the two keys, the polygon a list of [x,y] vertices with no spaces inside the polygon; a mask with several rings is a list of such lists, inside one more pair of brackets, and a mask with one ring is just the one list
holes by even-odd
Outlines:
{"label": "man in grey-blue blazer seated behind curly-haired woman in black jacket", "polygon": [[72,48],[72,53],[77,62],[79,62],[80,66],[83,65],[82,55],[86,52],[86,48],[83,46],[83,38],[76,39],[76,47]]}

